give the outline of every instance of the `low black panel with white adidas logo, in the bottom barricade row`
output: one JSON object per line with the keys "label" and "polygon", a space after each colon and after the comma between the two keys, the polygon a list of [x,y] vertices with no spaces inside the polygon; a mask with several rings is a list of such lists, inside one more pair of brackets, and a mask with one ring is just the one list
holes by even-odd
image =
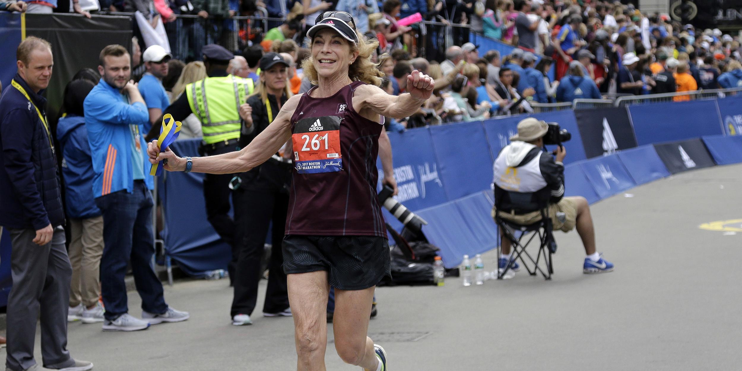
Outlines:
{"label": "low black panel with white adidas logo, in the bottom barricade row", "polygon": [[716,165],[700,138],[655,144],[654,149],[672,174]]}

